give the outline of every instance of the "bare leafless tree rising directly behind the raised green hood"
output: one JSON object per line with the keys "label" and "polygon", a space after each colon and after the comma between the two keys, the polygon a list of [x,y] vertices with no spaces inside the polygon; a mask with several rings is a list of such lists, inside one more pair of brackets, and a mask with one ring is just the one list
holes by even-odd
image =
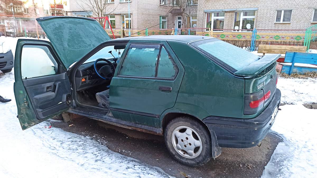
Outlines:
{"label": "bare leafless tree rising directly behind the raised green hood", "polygon": [[[87,12],[87,15],[89,14],[88,11],[92,11],[94,17],[104,17],[106,12],[109,13],[107,11],[107,2],[108,0],[81,0],[80,3],[77,1],[77,4],[83,11]],[[113,10],[115,10],[115,8]],[[111,12],[113,12],[113,10]],[[105,19],[96,20],[102,26]]]}

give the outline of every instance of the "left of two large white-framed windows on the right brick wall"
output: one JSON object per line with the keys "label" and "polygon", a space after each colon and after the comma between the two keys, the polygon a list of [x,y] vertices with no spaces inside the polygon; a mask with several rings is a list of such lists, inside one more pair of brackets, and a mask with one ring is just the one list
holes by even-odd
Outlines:
{"label": "left of two large white-framed windows on the right brick wall", "polygon": [[223,31],[224,12],[206,13],[206,31],[214,29],[214,31]]}

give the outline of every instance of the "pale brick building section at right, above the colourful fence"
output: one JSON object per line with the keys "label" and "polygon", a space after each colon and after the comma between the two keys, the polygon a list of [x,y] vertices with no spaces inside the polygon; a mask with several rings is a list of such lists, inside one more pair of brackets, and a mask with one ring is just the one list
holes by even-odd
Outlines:
{"label": "pale brick building section at right, above the colourful fence", "polygon": [[312,0],[198,0],[197,27],[306,29],[317,24],[316,9],[317,1]]}

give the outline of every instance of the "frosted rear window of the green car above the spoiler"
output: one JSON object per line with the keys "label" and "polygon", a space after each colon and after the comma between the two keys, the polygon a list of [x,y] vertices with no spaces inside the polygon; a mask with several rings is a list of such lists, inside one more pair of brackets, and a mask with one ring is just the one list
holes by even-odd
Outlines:
{"label": "frosted rear window of the green car above the spoiler", "polygon": [[259,56],[218,39],[206,39],[190,43],[231,72],[236,72],[259,59]]}

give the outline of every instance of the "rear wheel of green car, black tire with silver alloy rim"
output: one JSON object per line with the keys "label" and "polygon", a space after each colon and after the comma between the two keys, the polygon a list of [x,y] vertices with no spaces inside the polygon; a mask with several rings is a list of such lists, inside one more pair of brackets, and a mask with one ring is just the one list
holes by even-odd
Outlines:
{"label": "rear wheel of green car, black tire with silver alloy rim", "polygon": [[184,165],[202,166],[212,156],[210,132],[190,117],[171,120],[164,130],[164,139],[171,156]]}

